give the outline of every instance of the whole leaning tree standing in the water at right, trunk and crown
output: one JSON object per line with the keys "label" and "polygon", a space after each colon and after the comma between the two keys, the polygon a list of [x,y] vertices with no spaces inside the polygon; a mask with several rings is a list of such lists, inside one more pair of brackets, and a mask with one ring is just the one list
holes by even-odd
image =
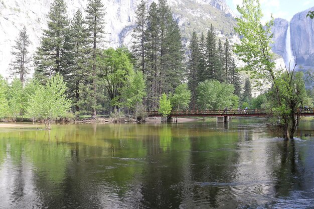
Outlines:
{"label": "whole leaning tree standing in the water at right, trunk and crown", "polygon": [[296,110],[306,99],[301,87],[302,78],[295,74],[295,66],[292,69],[286,67],[285,70],[276,70],[270,47],[273,19],[265,25],[261,24],[263,14],[259,1],[243,0],[243,6],[237,6],[237,9],[242,17],[237,19],[238,26],[235,31],[243,38],[240,44],[235,45],[235,53],[247,63],[244,69],[250,72],[253,78],[268,81],[272,85],[272,106],[275,107],[273,114],[281,118],[280,129],[283,138],[293,139]]}

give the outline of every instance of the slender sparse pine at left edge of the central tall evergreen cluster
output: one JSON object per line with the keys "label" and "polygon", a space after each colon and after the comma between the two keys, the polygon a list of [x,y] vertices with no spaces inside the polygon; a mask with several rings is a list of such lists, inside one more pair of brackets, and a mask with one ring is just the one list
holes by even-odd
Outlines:
{"label": "slender sparse pine at left edge of the central tall evergreen cluster", "polygon": [[147,26],[147,12],[146,12],[146,3],[147,1],[141,0],[135,11],[136,21],[135,28],[133,30],[133,38],[136,40],[132,46],[133,54],[139,63],[139,68],[143,75],[145,74],[145,30]]}

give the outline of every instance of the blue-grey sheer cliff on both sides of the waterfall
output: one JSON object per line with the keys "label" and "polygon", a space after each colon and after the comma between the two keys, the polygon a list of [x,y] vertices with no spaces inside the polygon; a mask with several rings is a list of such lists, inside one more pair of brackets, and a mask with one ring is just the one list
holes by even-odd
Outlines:
{"label": "blue-grey sheer cliff on both sides of the waterfall", "polygon": [[[296,56],[297,68],[314,69],[314,20],[306,18],[306,11],[293,16],[290,23],[283,19],[276,19],[273,27],[273,52],[287,58],[290,50]],[[290,27],[288,27],[290,24]],[[287,30],[290,30],[290,46],[287,45]]]}

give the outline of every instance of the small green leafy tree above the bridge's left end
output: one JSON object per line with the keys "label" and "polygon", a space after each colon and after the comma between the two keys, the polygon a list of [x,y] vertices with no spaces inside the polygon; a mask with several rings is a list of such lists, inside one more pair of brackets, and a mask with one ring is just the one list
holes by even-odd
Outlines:
{"label": "small green leafy tree above the bridge's left end", "polygon": [[189,107],[191,100],[191,91],[188,89],[187,84],[180,84],[176,89],[175,93],[170,97],[172,107],[177,110],[185,110]]}

